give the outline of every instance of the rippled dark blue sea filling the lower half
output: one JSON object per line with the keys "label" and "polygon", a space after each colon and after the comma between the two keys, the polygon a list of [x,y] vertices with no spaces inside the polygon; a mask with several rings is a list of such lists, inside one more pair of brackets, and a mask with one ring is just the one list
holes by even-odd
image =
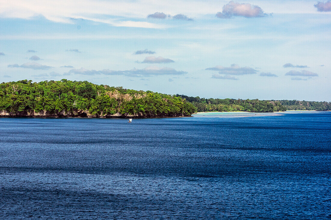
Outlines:
{"label": "rippled dark blue sea filling the lower half", "polygon": [[3,219],[330,219],[331,113],[0,118]]}

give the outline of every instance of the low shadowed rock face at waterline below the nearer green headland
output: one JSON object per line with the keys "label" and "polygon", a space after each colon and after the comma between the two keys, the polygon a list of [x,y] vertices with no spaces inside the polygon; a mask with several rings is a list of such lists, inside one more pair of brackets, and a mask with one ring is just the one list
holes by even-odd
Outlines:
{"label": "low shadowed rock face at waterline below the nearer green headland", "polygon": [[6,110],[0,110],[0,117],[101,117],[101,118],[156,118],[156,117],[183,117],[191,116],[184,115],[182,113],[178,114],[153,114],[150,112],[142,113],[138,112],[135,114],[106,114],[106,115],[92,115],[87,110],[73,110],[72,112],[65,112],[64,110],[60,112],[50,112],[50,111],[17,111],[17,112],[8,112]]}

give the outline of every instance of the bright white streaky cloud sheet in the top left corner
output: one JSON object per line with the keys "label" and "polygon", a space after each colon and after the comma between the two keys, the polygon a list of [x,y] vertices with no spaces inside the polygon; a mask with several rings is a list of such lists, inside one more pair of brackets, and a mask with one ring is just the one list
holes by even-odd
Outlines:
{"label": "bright white streaky cloud sheet in the top left corner", "polygon": [[[31,19],[43,16],[53,22],[74,23],[73,19],[85,19],[94,22],[108,23],[113,26],[164,28],[165,25],[139,21],[121,21],[120,19],[103,18],[107,15],[142,18],[150,11],[149,3],[143,2],[118,2],[86,0],[84,4],[79,0],[36,0],[36,1],[5,1],[1,4],[0,17]],[[111,12],[111,13],[110,13]],[[106,15],[106,16],[105,16]],[[91,16],[91,17],[87,17]]]}

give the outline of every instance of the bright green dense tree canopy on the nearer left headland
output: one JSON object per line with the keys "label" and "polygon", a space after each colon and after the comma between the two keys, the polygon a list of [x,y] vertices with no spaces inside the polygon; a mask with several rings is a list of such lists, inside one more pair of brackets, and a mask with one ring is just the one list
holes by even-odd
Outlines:
{"label": "bright green dense tree canopy on the nearer left headland", "polygon": [[65,112],[67,115],[72,115],[75,110],[86,110],[98,117],[137,113],[156,116],[191,115],[195,108],[177,96],[62,79],[39,83],[32,80],[3,82],[0,84],[0,110]]}

